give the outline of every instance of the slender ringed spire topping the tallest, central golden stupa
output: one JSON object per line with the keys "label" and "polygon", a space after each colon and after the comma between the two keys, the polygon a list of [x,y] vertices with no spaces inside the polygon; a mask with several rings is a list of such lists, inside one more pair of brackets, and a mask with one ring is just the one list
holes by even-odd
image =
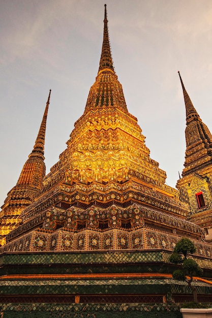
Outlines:
{"label": "slender ringed spire topping the tallest, central golden stupa", "polygon": [[[102,44],[102,54],[99,63],[99,72],[104,69],[111,69],[114,71],[113,68],[113,60],[110,51],[110,41],[108,35],[108,26],[107,26],[107,6],[105,5],[105,18],[104,18],[104,36],[103,36],[103,44]],[[99,73],[98,72],[98,73]]]}

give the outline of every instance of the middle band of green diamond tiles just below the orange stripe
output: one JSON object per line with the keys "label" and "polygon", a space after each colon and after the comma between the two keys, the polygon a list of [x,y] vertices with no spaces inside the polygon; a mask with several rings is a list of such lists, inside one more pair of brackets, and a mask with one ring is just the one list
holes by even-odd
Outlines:
{"label": "middle band of green diamond tiles just below the orange stripe", "polygon": [[[198,294],[211,294],[210,285],[197,281]],[[0,295],[191,294],[186,282],[173,279],[23,279],[1,280]]]}

